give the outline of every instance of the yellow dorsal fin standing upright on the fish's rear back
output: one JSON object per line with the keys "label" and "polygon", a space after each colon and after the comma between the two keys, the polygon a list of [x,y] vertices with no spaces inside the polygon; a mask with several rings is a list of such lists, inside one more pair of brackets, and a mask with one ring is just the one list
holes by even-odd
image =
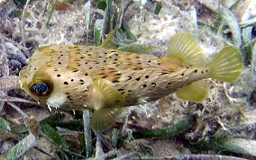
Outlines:
{"label": "yellow dorsal fin standing upright on the fish's rear back", "polygon": [[169,40],[166,57],[178,58],[183,65],[206,67],[206,54],[189,33],[178,33]]}

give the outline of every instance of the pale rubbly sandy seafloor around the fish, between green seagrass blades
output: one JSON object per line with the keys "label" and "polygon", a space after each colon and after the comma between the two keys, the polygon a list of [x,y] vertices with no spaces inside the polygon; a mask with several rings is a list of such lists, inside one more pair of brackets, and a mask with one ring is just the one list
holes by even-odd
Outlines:
{"label": "pale rubbly sandy seafloor around the fish, between green seagrass blades", "polygon": [[[170,156],[180,156],[176,158],[182,159],[185,158],[182,155],[190,155],[192,159],[213,159],[214,156],[217,159],[219,156],[216,155],[220,154],[219,150],[191,152],[185,147],[184,139],[186,139],[186,143],[187,141],[197,142],[210,138],[255,140],[256,93],[254,91],[255,58],[253,56],[255,56],[256,49],[253,25],[255,26],[256,3],[253,0],[245,0],[237,4],[232,12],[227,12],[226,8],[232,6],[236,2],[235,0],[220,1],[221,11],[218,11],[217,1],[215,0],[138,0],[134,1],[129,7],[125,7],[131,2],[127,0],[119,2],[125,11],[123,12],[122,24],[137,37],[136,44],[151,44],[155,47],[151,54],[163,56],[171,36],[178,32],[190,32],[205,50],[208,61],[211,61],[216,52],[232,43],[230,40],[223,39],[219,32],[216,33],[207,27],[198,26],[197,22],[214,26],[218,19],[218,12],[221,12],[223,16],[222,31],[233,35],[233,45],[242,49],[243,54],[245,51],[242,47],[246,41],[244,37],[250,37],[245,35],[251,30],[249,34],[251,35],[252,59],[250,58],[250,65],[247,62],[245,63],[241,77],[232,84],[211,80],[210,95],[203,102],[186,102],[178,99],[177,95],[173,93],[157,102],[127,108],[118,122],[126,121],[128,126],[130,124],[142,129],[163,129],[180,120],[187,119],[187,116],[191,114],[196,115],[197,126],[177,137],[133,140],[130,144],[116,151],[116,158],[123,159],[122,156],[127,155],[126,158],[131,159],[139,159],[140,157],[142,159],[168,159]],[[16,80],[19,70],[27,64],[26,59],[31,57],[36,49],[51,44],[94,45],[94,25],[96,20],[104,19],[105,12],[96,9],[96,1],[92,1],[90,7],[91,18],[87,28],[84,7],[86,3],[85,0],[70,1],[69,7],[57,7],[52,13],[49,25],[46,26],[53,5],[50,1],[35,1],[29,3],[26,7],[25,5],[17,6],[12,0],[0,1],[0,98],[5,101],[0,103],[3,106],[0,116],[9,120],[12,126],[23,123],[23,115],[15,111],[8,103],[11,101],[10,97],[32,101],[32,98],[19,89]],[[116,8],[120,7],[115,3],[112,6],[113,12],[119,11]],[[159,14],[154,14],[156,4],[162,5]],[[26,10],[24,17],[11,15],[11,12],[18,9]],[[120,43],[125,43],[125,41]],[[36,120],[43,120],[59,112],[54,109],[49,111],[48,108],[27,102],[14,102],[14,104],[29,117],[35,117]],[[65,118],[65,120],[70,119],[70,116]],[[122,133],[124,135],[132,131],[133,129],[125,128]],[[101,136],[108,139],[109,133],[104,133]],[[19,138],[15,138],[16,141],[10,139],[5,136],[1,137],[0,158],[4,157],[18,140],[21,140]],[[79,141],[78,134],[69,135],[66,139],[68,141],[69,139],[76,139],[74,141],[77,143]],[[153,156],[142,152],[142,146],[150,147]],[[38,138],[37,147],[54,157],[56,147],[47,138]],[[256,150],[255,146],[254,149]],[[136,153],[139,153],[140,156]],[[194,154],[198,156],[192,156]],[[95,158],[98,159],[102,155],[99,154]],[[32,148],[22,158],[51,159],[50,156]],[[256,155],[251,156],[250,154],[233,154],[232,156],[248,159],[256,158]],[[235,159],[235,157],[227,158]]]}

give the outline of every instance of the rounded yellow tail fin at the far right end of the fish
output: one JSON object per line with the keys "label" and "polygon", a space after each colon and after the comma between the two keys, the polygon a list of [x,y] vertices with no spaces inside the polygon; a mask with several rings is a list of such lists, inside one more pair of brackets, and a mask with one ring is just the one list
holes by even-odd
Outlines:
{"label": "rounded yellow tail fin at the far right end of the fish", "polygon": [[211,77],[224,82],[233,82],[242,72],[242,53],[233,46],[222,49],[209,66]]}

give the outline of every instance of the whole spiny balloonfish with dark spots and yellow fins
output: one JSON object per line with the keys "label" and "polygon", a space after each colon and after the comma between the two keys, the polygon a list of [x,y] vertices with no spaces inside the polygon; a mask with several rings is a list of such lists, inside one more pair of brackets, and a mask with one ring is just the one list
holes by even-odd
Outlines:
{"label": "whole spiny balloonfish with dark spots and yellow fins", "polygon": [[114,125],[123,108],[176,92],[198,102],[208,96],[208,81],[233,82],[242,72],[242,53],[222,49],[206,65],[206,54],[188,33],[169,40],[163,58],[117,49],[52,45],[36,50],[20,72],[23,90],[48,107],[93,110],[91,128]]}

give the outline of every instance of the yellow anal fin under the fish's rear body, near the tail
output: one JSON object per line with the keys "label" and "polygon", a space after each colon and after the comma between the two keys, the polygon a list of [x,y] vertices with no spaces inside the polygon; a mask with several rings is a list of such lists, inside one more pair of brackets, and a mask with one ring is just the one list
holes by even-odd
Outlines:
{"label": "yellow anal fin under the fish's rear body, near the tail", "polygon": [[200,102],[205,100],[209,95],[209,82],[197,81],[189,84],[177,92],[178,98],[181,98],[190,102]]}

